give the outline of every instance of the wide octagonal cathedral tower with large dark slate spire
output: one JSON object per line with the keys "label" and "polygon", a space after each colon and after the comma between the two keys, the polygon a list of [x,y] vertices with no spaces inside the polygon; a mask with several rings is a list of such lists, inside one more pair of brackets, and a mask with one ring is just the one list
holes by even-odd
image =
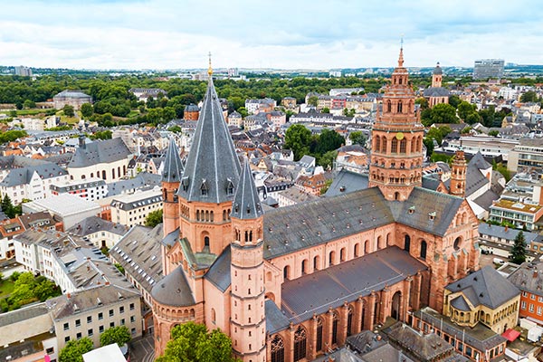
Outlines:
{"label": "wide octagonal cathedral tower with large dark slate spire", "polygon": [[241,166],[214,89],[211,61],[208,74],[194,142],[177,195],[180,237],[189,241],[192,252],[218,255],[231,242],[230,213]]}

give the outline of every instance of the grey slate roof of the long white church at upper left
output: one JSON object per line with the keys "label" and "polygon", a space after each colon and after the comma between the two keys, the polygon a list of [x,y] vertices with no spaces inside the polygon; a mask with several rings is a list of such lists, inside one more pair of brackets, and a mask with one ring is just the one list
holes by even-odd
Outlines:
{"label": "grey slate roof of the long white church at upper left", "polygon": [[77,148],[68,167],[90,167],[100,163],[108,164],[128,158],[130,152],[122,138],[94,141]]}

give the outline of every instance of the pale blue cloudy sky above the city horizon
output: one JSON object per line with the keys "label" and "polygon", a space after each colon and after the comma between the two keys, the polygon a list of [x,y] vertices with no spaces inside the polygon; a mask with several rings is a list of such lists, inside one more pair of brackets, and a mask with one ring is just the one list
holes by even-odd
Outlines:
{"label": "pale blue cloudy sky above the city horizon", "polygon": [[538,0],[0,0],[0,65],[72,69],[543,64]]}

